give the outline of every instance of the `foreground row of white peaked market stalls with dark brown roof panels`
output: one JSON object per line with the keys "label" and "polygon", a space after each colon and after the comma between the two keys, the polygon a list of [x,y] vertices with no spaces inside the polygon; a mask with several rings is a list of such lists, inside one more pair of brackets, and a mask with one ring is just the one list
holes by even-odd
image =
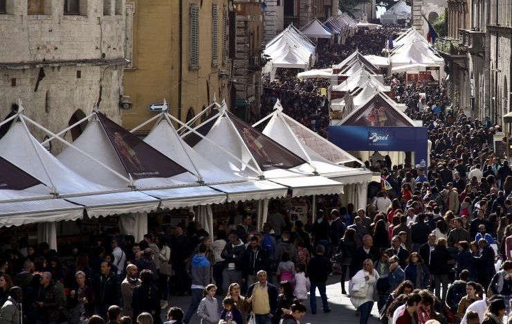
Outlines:
{"label": "foreground row of white peaked market stalls with dark brown roof panels", "polygon": [[[0,123],[12,123],[0,139],[0,226],[37,224],[39,242],[53,249],[57,223],[84,217],[120,215],[122,233],[140,240],[147,213],[156,210],[195,206],[212,234],[212,206],[230,201],[255,201],[259,228],[269,199],[345,191],[356,207],[366,204],[372,173],[341,165],[356,159],[283,114],[279,103],[259,122],[263,132],[214,103],[215,114],[196,127],[161,112],[143,124],[154,123],[144,140],[97,110],[53,134],[19,107]],[[64,140],[82,123],[80,137]],[[39,143],[29,127],[49,138]],[[48,141],[66,148],[53,156]]]}

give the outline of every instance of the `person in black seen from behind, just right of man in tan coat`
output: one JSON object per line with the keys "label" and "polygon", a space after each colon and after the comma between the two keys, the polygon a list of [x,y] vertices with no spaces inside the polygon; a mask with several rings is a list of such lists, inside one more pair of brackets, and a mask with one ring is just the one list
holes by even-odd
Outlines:
{"label": "person in black seen from behind, just right of man in tan coat", "polygon": [[131,308],[134,309],[134,320],[140,313],[147,312],[153,317],[153,323],[162,323],[160,319],[160,296],[158,289],[153,284],[153,273],[151,270],[140,271],[141,285],[134,289],[134,299],[131,300]]}

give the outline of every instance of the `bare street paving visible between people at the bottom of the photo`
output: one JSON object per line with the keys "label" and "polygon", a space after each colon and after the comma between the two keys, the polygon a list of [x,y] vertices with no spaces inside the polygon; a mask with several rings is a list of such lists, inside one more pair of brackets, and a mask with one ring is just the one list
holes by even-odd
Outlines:
{"label": "bare street paving visible between people at the bottom of the photo", "polygon": [[[311,323],[311,324],[356,324],[359,323],[359,317],[354,314],[354,306],[350,303],[350,300],[347,296],[342,296],[341,287],[340,287],[340,276],[329,276],[329,280],[327,281],[327,298],[329,298],[329,307],[332,309],[330,313],[324,314],[322,312],[322,300],[320,300],[320,296],[317,291],[317,314],[313,315],[310,312],[309,307],[309,299],[304,300],[304,305],[306,305],[308,312],[307,315],[300,321],[300,323]],[[348,282],[345,282],[347,285],[346,289],[348,290]],[[219,304],[222,303],[222,300],[219,296]],[[183,309],[183,312],[187,312],[188,305],[190,304],[190,296],[171,296],[172,306],[178,306]],[[164,312],[162,312],[164,315]],[[163,318],[163,317],[162,317]],[[378,323],[378,311],[377,311],[377,303],[374,304],[374,309],[372,310],[372,317],[369,319],[368,323]],[[199,317],[194,315],[190,324],[199,324]]]}

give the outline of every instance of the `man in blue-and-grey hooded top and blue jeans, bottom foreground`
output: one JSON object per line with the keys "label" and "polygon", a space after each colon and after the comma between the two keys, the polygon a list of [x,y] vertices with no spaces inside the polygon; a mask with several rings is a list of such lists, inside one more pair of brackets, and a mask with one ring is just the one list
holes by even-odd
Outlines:
{"label": "man in blue-and-grey hooded top and blue jeans, bottom foreground", "polygon": [[210,261],[205,256],[207,249],[205,244],[199,244],[199,253],[192,258],[192,301],[183,320],[185,324],[190,322],[190,318],[197,311],[203,299],[203,290],[210,284]]}

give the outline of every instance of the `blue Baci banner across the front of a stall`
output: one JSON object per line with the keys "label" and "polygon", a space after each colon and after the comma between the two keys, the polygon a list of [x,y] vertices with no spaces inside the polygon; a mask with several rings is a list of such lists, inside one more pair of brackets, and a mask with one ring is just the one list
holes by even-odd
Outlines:
{"label": "blue Baci banner across the front of a stall", "polygon": [[414,165],[426,165],[427,127],[329,126],[329,141],[346,151],[414,152]]}

